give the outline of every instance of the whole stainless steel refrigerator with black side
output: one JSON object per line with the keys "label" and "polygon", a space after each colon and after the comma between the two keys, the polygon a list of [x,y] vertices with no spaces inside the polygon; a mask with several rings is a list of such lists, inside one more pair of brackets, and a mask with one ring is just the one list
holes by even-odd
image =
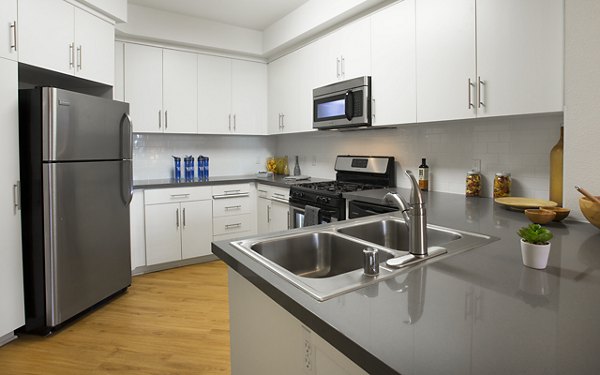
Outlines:
{"label": "whole stainless steel refrigerator with black side", "polygon": [[19,91],[26,332],[46,334],[131,284],[129,104]]}

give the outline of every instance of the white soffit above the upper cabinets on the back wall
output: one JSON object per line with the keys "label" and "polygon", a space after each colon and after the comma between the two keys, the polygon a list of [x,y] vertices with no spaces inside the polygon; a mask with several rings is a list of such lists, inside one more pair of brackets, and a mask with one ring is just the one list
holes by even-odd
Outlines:
{"label": "white soffit above the upper cabinets on the back wall", "polygon": [[262,56],[262,32],[129,4],[118,35],[217,51]]}

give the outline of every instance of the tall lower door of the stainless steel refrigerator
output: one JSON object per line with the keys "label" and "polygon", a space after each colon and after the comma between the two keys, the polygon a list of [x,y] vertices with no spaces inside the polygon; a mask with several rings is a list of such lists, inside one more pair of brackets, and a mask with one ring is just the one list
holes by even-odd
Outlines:
{"label": "tall lower door of the stainless steel refrigerator", "polygon": [[127,163],[43,165],[48,326],[131,284]]}

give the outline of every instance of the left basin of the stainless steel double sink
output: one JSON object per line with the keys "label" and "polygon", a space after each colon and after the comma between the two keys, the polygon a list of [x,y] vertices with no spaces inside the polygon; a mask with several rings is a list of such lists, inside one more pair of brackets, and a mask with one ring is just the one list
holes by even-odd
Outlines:
{"label": "left basin of the stainless steel double sink", "polygon": [[[335,233],[314,232],[265,240],[250,248],[294,275],[324,278],[362,269],[365,247]],[[393,257],[391,252],[380,251],[381,262]]]}

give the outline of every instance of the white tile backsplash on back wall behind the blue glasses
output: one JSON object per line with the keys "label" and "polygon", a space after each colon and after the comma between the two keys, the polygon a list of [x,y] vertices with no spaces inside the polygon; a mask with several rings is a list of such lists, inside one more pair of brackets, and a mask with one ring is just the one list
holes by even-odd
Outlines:
{"label": "white tile backsplash on back wall behind the blue glasses", "polygon": [[254,174],[265,170],[267,157],[274,151],[273,137],[134,134],[133,178],[171,178],[171,155],[182,158],[193,155],[194,159],[197,159],[198,155],[208,156],[210,176]]}

